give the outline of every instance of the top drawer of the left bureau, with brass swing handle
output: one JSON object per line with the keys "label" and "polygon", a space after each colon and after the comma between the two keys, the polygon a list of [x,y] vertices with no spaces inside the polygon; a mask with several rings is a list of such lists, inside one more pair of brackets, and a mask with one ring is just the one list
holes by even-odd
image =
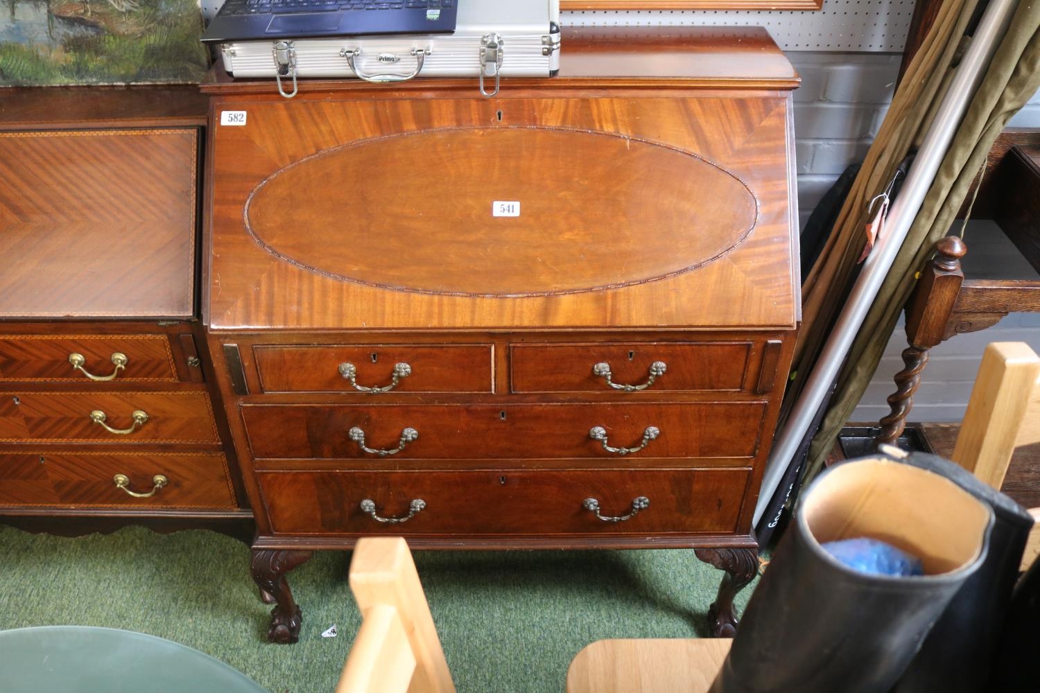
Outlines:
{"label": "top drawer of the left bureau, with brass swing handle", "polygon": [[0,381],[89,382],[90,375],[111,382],[178,379],[165,335],[0,336]]}

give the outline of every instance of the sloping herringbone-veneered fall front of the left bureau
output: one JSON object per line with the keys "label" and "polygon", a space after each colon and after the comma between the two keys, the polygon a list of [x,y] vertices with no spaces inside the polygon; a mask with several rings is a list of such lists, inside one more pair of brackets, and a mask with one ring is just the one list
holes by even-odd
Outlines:
{"label": "sloping herringbone-veneered fall front of the left bureau", "polygon": [[0,317],[191,317],[198,137],[0,132]]}

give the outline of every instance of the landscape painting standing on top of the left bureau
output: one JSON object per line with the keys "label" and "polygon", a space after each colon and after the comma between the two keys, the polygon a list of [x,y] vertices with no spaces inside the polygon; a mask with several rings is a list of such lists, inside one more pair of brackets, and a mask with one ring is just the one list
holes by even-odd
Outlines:
{"label": "landscape painting standing on top of the left bureau", "polygon": [[198,83],[197,0],[0,0],[0,85]]}

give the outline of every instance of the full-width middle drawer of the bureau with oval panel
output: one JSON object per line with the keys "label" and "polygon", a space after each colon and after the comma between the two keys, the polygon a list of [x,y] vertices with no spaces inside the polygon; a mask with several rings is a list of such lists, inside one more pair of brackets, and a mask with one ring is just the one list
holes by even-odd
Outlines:
{"label": "full-width middle drawer of the bureau with oval panel", "polygon": [[[765,403],[312,405],[241,407],[258,458],[753,457]],[[606,439],[594,438],[594,427]],[[656,437],[647,428],[658,430]],[[406,429],[417,432],[409,436]],[[360,434],[359,434],[360,431]],[[359,439],[361,438],[361,439]],[[409,439],[414,438],[414,439]],[[634,448],[628,453],[612,448]]]}

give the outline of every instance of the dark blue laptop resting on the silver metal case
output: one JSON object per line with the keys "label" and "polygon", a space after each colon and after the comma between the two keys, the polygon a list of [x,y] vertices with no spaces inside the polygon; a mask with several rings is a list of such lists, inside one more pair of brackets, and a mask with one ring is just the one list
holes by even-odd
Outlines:
{"label": "dark blue laptop resting on the silver metal case", "polygon": [[202,41],[220,44],[355,34],[451,33],[459,2],[225,0]]}

